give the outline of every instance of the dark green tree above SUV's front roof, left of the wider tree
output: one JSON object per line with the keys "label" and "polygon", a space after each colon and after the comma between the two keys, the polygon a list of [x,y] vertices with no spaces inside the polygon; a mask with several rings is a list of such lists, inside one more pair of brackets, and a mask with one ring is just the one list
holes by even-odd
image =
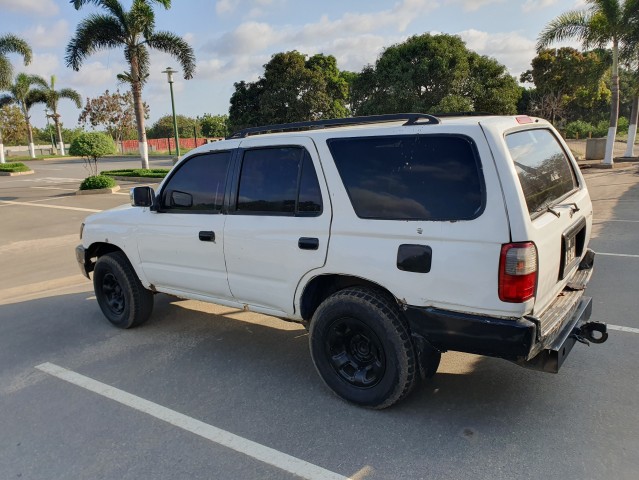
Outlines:
{"label": "dark green tree above SUV's front roof, left of the wider tree", "polygon": [[232,131],[348,114],[348,83],[332,55],[310,58],[298,52],[277,53],[256,82],[239,82],[231,96]]}

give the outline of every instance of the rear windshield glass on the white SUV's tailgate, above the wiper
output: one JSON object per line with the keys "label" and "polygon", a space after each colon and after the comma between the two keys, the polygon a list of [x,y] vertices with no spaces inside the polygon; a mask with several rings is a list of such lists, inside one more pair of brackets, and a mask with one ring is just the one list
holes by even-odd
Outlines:
{"label": "rear windshield glass on the white SUV's tailgate, above the wiper", "polygon": [[570,160],[549,130],[511,133],[506,144],[531,216],[578,187]]}

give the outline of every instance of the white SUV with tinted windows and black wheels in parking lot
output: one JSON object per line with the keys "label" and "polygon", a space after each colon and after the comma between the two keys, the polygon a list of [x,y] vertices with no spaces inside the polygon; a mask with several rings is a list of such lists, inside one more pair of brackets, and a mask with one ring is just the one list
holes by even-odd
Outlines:
{"label": "white SUV with tinted windows and black wheels in parking lot", "polygon": [[76,250],[111,323],[143,323],[156,292],[297,321],[322,379],[360,405],[392,405],[446,350],[557,372],[576,341],[607,338],[583,296],[588,190],[540,119],[252,128],[131,200],[88,217]]}

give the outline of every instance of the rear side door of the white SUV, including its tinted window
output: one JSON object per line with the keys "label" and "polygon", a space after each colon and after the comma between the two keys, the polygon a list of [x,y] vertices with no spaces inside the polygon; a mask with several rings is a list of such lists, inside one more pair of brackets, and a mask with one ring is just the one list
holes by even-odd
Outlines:
{"label": "rear side door of the white SUV, including its tinted window", "polygon": [[308,137],[242,141],[224,254],[239,302],[274,315],[294,313],[300,279],[326,262],[331,204]]}

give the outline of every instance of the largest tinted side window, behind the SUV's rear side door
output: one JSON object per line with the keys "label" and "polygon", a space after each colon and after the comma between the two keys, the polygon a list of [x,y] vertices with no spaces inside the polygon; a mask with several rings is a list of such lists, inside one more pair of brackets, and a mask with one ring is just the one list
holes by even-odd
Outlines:
{"label": "largest tinted side window, behind the SUV's rear side door", "polygon": [[467,137],[339,138],[328,146],[360,218],[470,220],[483,210],[483,177]]}

